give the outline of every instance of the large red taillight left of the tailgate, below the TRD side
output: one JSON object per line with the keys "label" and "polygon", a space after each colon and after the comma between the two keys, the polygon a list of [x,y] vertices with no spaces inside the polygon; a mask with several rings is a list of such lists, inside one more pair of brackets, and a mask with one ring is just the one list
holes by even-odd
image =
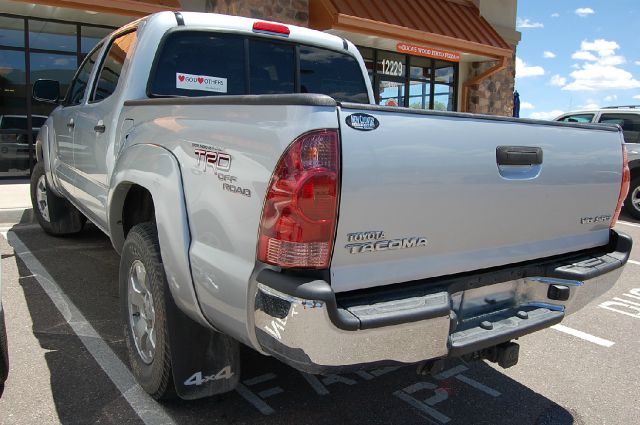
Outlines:
{"label": "large red taillight left of the tailgate, below the TRD side", "polygon": [[286,268],[329,267],[338,214],[337,130],[298,137],[280,158],[262,210],[258,260]]}

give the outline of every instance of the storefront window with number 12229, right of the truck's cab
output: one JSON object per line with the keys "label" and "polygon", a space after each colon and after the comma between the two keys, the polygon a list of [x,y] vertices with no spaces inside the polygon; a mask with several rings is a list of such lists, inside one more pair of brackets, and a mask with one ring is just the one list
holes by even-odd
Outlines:
{"label": "storefront window with number 12229, right of the truck's cab", "polygon": [[358,50],[379,105],[457,110],[457,63],[368,47]]}

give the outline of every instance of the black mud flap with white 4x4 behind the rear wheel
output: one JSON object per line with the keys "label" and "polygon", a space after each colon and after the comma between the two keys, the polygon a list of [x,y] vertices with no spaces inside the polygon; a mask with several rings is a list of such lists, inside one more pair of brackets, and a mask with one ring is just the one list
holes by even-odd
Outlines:
{"label": "black mud flap with white 4x4 behind the rear wheel", "polygon": [[166,297],[166,304],[173,381],[178,396],[195,400],[235,389],[240,379],[239,343],[194,322],[176,306],[173,297]]}

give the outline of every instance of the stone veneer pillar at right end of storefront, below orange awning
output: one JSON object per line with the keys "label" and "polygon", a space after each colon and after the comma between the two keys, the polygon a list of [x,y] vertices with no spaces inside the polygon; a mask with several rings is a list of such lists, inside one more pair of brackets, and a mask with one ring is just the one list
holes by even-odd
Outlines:
{"label": "stone veneer pillar at right end of storefront, below orange awning", "polygon": [[[468,111],[476,114],[513,116],[513,90],[516,80],[515,47],[513,57],[507,61],[506,69],[481,81],[469,89]],[[474,62],[467,80],[475,78],[495,62]]]}

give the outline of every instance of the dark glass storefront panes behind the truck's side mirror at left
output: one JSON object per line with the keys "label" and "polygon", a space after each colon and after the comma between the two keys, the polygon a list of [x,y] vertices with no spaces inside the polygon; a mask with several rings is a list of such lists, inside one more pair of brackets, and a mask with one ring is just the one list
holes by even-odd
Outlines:
{"label": "dark glass storefront panes behind the truck's side mirror at left", "polygon": [[0,178],[28,176],[34,141],[55,107],[31,99],[40,78],[64,96],[86,52],[114,28],[0,14]]}

